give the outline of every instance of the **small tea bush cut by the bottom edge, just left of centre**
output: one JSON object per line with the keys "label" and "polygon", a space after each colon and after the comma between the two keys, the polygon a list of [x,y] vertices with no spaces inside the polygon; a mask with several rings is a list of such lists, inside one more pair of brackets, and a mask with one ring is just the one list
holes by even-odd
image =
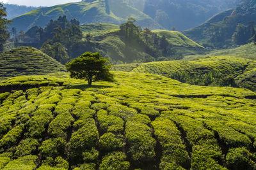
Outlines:
{"label": "small tea bush cut by the bottom edge, just left of centre", "polygon": [[127,170],[130,167],[130,163],[125,161],[126,156],[123,152],[113,152],[104,156],[99,169],[120,169]]}

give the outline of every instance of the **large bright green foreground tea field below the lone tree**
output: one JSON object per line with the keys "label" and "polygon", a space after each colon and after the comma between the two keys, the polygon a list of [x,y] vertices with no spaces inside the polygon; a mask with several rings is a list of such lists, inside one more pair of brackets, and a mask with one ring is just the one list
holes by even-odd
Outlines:
{"label": "large bright green foreground tea field below the lone tree", "polygon": [[256,94],[115,71],[0,84],[3,169],[255,169]]}

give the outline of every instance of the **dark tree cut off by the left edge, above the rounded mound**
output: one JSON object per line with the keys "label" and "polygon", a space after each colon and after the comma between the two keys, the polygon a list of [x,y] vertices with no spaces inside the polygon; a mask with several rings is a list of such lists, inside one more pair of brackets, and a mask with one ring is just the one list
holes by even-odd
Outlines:
{"label": "dark tree cut off by the left edge, above the rounded mound", "polygon": [[10,33],[6,30],[10,23],[11,21],[6,18],[6,8],[0,3],[0,53],[3,52],[4,43],[10,36]]}

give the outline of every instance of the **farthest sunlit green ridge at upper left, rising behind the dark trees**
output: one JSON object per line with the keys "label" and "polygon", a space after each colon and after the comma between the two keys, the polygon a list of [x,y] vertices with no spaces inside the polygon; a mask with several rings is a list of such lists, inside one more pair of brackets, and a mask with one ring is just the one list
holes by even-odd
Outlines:
{"label": "farthest sunlit green ridge at upper left, rising behind the dark trees", "polygon": [[[134,17],[137,20],[136,24],[143,27],[162,28],[145,13],[122,3],[122,1],[115,0],[82,1],[40,8],[13,18],[11,27],[17,28],[17,31],[28,31],[35,25],[44,27],[49,20],[56,20],[63,15],[66,15],[68,20],[76,18],[81,24],[109,23],[116,25],[124,23],[129,17]],[[26,24],[24,24],[25,22]]]}

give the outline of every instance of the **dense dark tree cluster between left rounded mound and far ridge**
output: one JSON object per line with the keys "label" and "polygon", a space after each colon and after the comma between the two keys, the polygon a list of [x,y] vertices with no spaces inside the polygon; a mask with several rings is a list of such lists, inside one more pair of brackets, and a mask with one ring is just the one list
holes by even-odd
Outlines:
{"label": "dense dark tree cluster between left rounded mound and far ridge", "polygon": [[84,52],[74,52],[77,46],[85,46],[81,43],[83,33],[79,28],[79,21],[68,21],[66,16],[50,20],[44,28],[35,26],[27,32],[20,31],[18,34],[13,27],[11,34],[11,41],[16,46],[35,46],[63,64],[70,60],[70,57],[77,57],[77,53],[81,55]]}

